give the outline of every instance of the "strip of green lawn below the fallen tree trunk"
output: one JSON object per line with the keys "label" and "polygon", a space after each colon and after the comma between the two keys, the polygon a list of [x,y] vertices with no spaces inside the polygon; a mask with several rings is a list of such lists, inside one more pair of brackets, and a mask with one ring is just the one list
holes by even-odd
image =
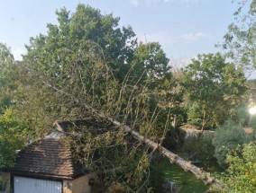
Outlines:
{"label": "strip of green lawn below the fallen tree trunk", "polygon": [[176,164],[171,164],[168,159],[160,160],[160,170],[163,171],[165,178],[177,182],[181,187],[179,193],[205,193],[208,189],[201,180],[191,173],[186,172]]}

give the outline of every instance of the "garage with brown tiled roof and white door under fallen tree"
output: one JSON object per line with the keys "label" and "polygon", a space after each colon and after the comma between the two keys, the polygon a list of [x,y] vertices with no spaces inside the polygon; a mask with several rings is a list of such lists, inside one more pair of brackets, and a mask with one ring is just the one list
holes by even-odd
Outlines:
{"label": "garage with brown tiled roof and white door under fallen tree", "polygon": [[[81,121],[78,123],[86,124]],[[69,121],[57,121],[57,131],[38,139],[18,153],[14,167],[2,170],[6,182],[5,192],[99,192],[94,186],[96,174],[75,162],[70,146],[65,141],[64,130],[69,129],[70,124]]]}

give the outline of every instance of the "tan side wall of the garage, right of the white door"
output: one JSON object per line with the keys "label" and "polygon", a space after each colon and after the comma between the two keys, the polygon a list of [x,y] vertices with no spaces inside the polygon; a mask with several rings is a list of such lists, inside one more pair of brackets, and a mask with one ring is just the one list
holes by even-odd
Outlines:
{"label": "tan side wall of the garage, right of the white door", "polygon": [[[63,193],[91,193],[89,180],[96,179],[96,174],[90,173],[75,180],[63,180]],[[69,186],[65,187],[65,184]]]}

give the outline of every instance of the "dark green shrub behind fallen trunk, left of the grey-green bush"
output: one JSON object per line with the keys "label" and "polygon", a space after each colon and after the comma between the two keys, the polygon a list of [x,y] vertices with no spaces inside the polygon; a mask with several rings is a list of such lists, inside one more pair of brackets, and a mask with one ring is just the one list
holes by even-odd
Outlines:
{"label": "dark green shrub behind fallen trunk, left of the grey-green bush", "polygon": [[199,165],[210,168],[215,165],[215,146],[213,145],[214,134],[204,132],[202,136],[191,134],[187,136],[182,147],[182,152],[191,161],[199,161]]}

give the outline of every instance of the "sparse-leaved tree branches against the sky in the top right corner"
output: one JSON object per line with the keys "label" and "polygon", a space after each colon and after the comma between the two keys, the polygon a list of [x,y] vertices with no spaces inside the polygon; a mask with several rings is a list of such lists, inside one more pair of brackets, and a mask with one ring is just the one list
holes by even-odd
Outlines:
{"label": "sparse-leaved tree branches against the sky in the top right corner", "polygon": [[256,67],[256,1],[235,0],[238,9],[234,22],[228,26],[222,47],[234,63],[245,69]]}

